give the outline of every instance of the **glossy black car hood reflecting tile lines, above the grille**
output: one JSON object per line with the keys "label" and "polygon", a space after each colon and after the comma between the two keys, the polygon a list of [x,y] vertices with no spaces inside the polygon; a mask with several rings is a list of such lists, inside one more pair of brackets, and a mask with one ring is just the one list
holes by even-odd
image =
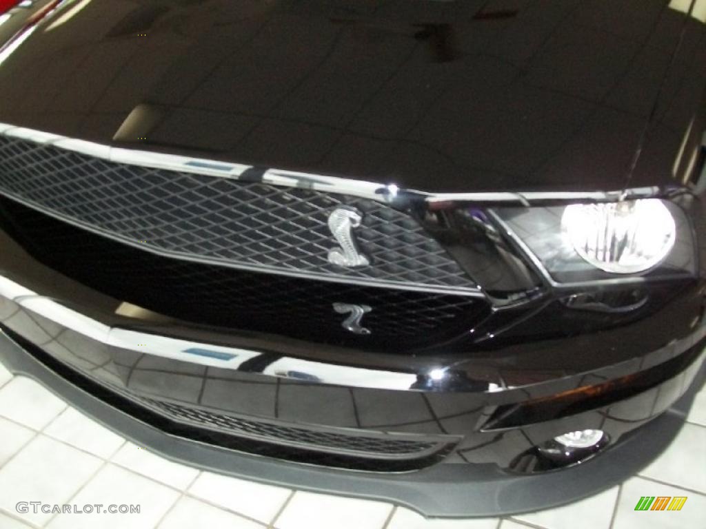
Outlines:
{"label": "glossy black car hood reflecting tile lines, above the grille", "polygon": [[418,190],[613,190],[669,181],[704,102],[704,25],[663,0],[62,4],[1,64],[0,122]]}

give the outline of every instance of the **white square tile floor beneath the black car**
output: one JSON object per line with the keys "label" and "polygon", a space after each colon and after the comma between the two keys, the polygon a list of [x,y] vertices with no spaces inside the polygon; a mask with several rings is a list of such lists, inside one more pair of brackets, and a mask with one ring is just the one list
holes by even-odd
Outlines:
{"label": "white square tile floor beneath the black car", "polygon": [[[640,476],[568,506],[510,518],[427,520],[403,507],[226,478],[167,461],[0,365],[0,529],[702,528],[706,389]],[[687,496],[681,511],[634,511],[640,496]],[[20,513],[18,501],[140,504],[139,514]]]}

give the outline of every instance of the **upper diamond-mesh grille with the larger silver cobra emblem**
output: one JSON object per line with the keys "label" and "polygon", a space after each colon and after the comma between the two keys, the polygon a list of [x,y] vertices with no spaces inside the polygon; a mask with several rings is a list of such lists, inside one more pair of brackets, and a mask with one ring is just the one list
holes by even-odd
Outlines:
{"label": "upper diamond-mesh grille with the larger silver cobra emblem", "polygon": [[[0,193],[121,241],[244,269],[401,288],[475,286],[407,214],[373,200],[262,182],[149,169],[0,136]],[[336,207],[371,265],[328,262]]]}

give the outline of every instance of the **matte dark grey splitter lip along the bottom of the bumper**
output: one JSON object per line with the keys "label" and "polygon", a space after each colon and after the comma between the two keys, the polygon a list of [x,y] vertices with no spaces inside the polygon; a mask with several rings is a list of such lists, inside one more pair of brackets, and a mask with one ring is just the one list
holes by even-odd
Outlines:
{"label": "matte dark grey splitter lip along the bottom of the bumper", "polygon": [[674,439],[706,377],[705,364],[688,391],[666,412],[581,465],[535,475],[471,464],[383,474],[289,463],[165,434],[69,382],[1,332],[0,361],[16,375],[37,380],[105,427],[169,460],[268,485],[388,501],[431,518],[494,517],[549,509],[626,480]]}

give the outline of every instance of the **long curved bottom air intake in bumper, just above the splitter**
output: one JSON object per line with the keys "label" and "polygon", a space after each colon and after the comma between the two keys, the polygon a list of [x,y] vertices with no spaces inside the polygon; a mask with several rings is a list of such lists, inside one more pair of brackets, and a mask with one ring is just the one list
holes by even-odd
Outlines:
{"label": "long curved bottom air intake in bumper, just above the splitter", "polygon": [[[350,429],[314,429],[237,418],[181,403],[138,396],[62,363],[10,329],[11,339],[61,377],[167,434],[266,456],[346,470],[407,472],[443,461],[457,444],[452,436],[383,434]],[[406,438],[402,438],[406,437]],[[416,439],[414,439],[416,438]]]}

